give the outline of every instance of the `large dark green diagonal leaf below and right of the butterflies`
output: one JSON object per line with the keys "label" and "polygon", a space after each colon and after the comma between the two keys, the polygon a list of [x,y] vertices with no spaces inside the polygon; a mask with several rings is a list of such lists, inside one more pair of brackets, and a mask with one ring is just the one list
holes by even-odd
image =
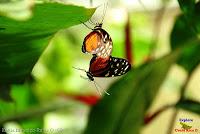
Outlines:
{"label": "large dark green diagonal leaf below and right of the butterflies", "polygon": [[178,52],[132,69],[92,108],[85,134],[138,134]]}

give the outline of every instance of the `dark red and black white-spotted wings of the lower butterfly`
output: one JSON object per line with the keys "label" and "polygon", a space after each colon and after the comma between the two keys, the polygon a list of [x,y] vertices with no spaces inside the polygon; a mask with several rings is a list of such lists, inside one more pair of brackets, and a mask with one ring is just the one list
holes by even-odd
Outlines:
{"label": "dark red and black white-spotted wings of the lower butterfly", "polygon": [[122,58],[94,56],[90,61],[89,72],[93,77],[121,76],[131,69],[131,64]]}

